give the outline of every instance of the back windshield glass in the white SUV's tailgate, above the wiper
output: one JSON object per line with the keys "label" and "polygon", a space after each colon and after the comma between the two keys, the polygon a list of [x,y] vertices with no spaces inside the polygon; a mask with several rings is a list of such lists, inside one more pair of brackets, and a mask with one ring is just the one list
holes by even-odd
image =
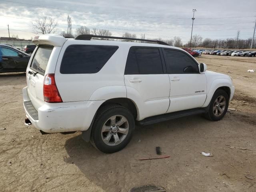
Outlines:
{"label": "back windshield glass in the white SUV's tailgate, above the wiper", "polygon": [[34,55],[30,67],[44,75],[53,48],[54,46],[52,45],[40,45],[36,50],[36,54]]}

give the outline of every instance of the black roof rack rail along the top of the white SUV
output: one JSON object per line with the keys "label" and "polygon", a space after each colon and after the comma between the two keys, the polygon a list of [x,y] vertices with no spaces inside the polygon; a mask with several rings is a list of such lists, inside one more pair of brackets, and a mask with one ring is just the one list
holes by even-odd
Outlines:
{"label": "black roof rack rail along the top of the white SUV", "polygon": [[158,44],[161,44],[161,45],[169,45],[166,42],[158,41],[158,40],[127,38],[127,37],[113,37],[113,36],[101,36],[101,35],[91,35],[91,34],[81,34],[81,35],[76,36],[74,39],[75,40],[91,40],[93,37],[94,38],[107,38],[107,39],[123,39],[123,40],[147,41],[147,42],[155,42],[155,43],[158,43]]}

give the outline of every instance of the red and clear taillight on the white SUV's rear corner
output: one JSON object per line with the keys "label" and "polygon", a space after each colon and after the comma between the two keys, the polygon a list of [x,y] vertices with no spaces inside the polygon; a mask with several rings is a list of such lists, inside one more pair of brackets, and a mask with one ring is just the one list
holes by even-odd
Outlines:
{"label": "red and clear taillight on the white SUV's rear corner", "polygon": [[62,102],[54,74],[47,74],[44,78],[44,101],[49,103]]}

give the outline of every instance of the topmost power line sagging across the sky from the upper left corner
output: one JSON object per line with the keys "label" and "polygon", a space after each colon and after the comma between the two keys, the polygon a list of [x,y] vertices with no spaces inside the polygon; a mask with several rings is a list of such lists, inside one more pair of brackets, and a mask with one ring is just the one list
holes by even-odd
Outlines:
{"label": "topmost power line sagging across the sky from the upper left corner", "polygon": [[[71,10],[71,9],[62,9],[62,8],[56,8],[56,7],[50,7],[50,6],[42,6],[42,5],[36,5],[36,4],[28,4],[28,3],[21,3],[21,2],[15,2],[15,1],[9,1],[9,0],[3,0],[6,2],[11,3],[18,3],[18,4],[25,4],[29,6],[38,6],[43,8],[52,8],[57,10],[66,10],[66,11],[72,11],[72,12],[82,12],[82,13],[90,13],[90,14],[100,14],[100,15],[114,15],[114,16],[126,16],[126,17],[135,17],[135,18],[168,18],[168,19],[190,19],[190,18],[171,18],[171,17],[148,17],[148,16],[134,16],[134,15],[124,15],[124,14],[111,14],[111,13],[100,13],[100,12],[86,12],[86,11],[78,11],[78,10]],[[236,16],[236,17],[209,17],[209,18],[197,18],[197,19],[216,19],[216,18],[250,18],[254,16]]]}

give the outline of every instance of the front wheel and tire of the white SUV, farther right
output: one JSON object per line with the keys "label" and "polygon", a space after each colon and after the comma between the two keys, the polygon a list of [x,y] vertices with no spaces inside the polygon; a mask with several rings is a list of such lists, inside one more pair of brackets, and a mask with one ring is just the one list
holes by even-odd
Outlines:
{"label": "front wheel and tire of the white SUV, farther right", "polygon": [[210,107],[208,112],[205,114],[205,117],[211,121],[221,120],[228,110],[228,104],[229,97],[226,91],[216,90],[212,96]]}

